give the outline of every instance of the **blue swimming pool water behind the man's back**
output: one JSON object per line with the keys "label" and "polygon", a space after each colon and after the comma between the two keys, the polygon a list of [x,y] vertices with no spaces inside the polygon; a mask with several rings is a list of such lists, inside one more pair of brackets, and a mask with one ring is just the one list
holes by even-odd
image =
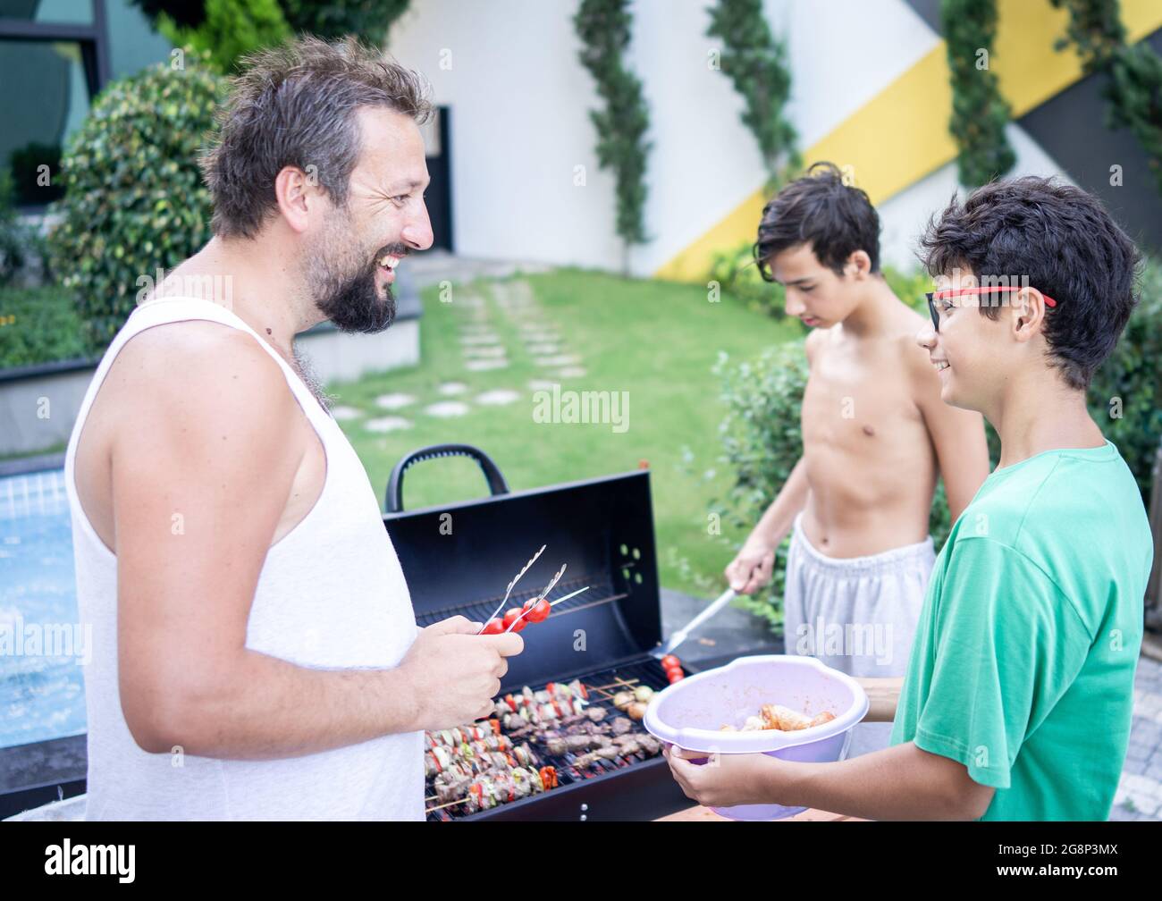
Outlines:
{"label": "blue swimming pool water behind the man's back", "polygon": [[80,657],[29,652],[15,638],[77,622],[64,471],[0,477],[0,748],[85,731]]}

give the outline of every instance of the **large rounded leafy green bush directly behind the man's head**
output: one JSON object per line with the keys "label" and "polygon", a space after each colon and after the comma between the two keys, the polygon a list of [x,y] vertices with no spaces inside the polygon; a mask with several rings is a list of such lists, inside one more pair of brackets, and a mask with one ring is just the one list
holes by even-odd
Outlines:
{"label": "large rounded leafy green bush directly behind the man's head", "polygon": [[205,55],[187,51],[184,69],[159,63],[110,84],[65,148],[65,196],[53,206],[63,219],[49,244],[94,353],[152,284],[144,279],[210,237],[198,155],[223,88]]}

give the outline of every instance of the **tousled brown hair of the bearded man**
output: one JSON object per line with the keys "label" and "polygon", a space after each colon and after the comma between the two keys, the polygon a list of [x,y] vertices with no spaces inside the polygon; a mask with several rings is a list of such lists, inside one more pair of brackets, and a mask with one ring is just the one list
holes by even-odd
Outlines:
{"label": "tousled brown hair of the bearded man", "polygon": [[218,113],[218,138],[199,160],[214,198],[214,234],[254,237],[278,206],[284,166],[314,165],[336,206],[359,158],[356,110],[386,107],[425,122],[432,113],[423,76],[354,38],[300,37],[243,60]]}

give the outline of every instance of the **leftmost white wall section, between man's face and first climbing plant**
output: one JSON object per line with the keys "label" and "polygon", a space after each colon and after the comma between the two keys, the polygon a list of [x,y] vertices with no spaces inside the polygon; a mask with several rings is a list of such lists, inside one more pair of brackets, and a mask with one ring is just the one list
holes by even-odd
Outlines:
{"label": "leftmost white wall section, between man's face and first climbing plant", "polygon": [[[576,59],[573,6],[426,0],[392,30],[392,55],[451,107],[458,253],[621,265],[614,180],[593,151],[586,110],[597,98]],[[575,165],[586,167],[584,187],[573,185]]]}

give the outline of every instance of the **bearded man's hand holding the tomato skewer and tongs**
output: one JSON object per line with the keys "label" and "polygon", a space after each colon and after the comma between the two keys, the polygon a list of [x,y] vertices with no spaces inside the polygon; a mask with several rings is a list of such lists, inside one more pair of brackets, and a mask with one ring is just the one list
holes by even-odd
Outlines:
{"label": "bearded man's hand holding the tomato skewer and tongs", "polygon": [[524,650],[516,632],[476,635],[480,623],[453,616],[422,629],[400,673],[411,686],[416,729],[451,729],[493,711],[508,672],[505,657]]}

